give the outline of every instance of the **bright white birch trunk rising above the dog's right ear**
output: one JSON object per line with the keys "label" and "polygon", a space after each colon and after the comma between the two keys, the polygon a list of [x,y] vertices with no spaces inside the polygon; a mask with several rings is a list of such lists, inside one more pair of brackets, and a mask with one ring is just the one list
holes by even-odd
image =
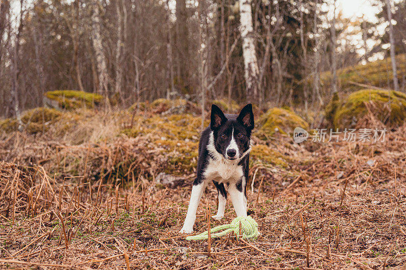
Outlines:
{"label": "bright white birch trunk rising above the dog's right ear", "polygon": [[244,76],[247,101],[258,102],[259,68],[255,52],[251,0],[240,0],[240,31],[243,40]]}

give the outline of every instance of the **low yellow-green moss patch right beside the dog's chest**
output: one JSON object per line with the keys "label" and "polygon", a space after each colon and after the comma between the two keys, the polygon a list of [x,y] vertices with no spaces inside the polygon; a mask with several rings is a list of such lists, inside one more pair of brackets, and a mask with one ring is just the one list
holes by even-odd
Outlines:
{"label": "low yellow-green moss patch right beside the dog's chest", "polygon": [[289,159],[267,145],[258,144],[253,146],[250,152],[250,163],[255,164],[257,162],[287,168]]}

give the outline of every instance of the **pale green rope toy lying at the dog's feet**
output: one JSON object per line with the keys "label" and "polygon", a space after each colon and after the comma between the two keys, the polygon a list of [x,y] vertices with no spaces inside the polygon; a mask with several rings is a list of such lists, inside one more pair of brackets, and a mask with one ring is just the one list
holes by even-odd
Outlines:
{"label": "pale green rope toy lying at the dog's feet", "polygon": [[[240,224],[241,224],[241,235],[240,235]],[[223,230],[223,232],[216,233],[219,230]],[[250,216],[248,217],[236,217],[234,218],[230,224],[220,225],[210,229],[210,235],[212,238],[222,237],[226,234],[234,232],[236,239],[238,240],[240,237],[243,239],[257,239],[258,233],[258,223]],[[188,236],[186,240],[205,240],[209,238],[209,232],[201,233],[196,236]]]}

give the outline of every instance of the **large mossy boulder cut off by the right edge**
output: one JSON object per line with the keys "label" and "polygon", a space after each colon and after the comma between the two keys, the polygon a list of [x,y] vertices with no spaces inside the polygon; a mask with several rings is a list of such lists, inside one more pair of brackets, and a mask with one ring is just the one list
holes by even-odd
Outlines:
{"label": "large mossy boulder cut off by the right edge", "polygon": [[[369,105],[369,106],[368,106]],[[351,128],[368,113],[368,108],[387,126],[402,125],[406,119],[406,95],[397,91],[366,89],[352,93],[336,109],[334,128]]]}

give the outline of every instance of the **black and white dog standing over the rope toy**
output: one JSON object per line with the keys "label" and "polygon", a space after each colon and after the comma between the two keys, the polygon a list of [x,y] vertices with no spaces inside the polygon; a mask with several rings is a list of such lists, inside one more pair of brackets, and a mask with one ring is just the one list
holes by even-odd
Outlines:
{"label": "black and white dog standing over the rope toy", "polygon": [[218,210],[213,216],[224,216],[228,187],[237,216],[247,216],[247,179],[251,131],[254,128],[252,105],[246,105],[237,114],[224,114],[212,105],[210,127],[201,133],[197,177],[193,182],[189,208],[180,233],[190,234],[196,219],[196,210],[207,184],[213,181],[218,191]]}

